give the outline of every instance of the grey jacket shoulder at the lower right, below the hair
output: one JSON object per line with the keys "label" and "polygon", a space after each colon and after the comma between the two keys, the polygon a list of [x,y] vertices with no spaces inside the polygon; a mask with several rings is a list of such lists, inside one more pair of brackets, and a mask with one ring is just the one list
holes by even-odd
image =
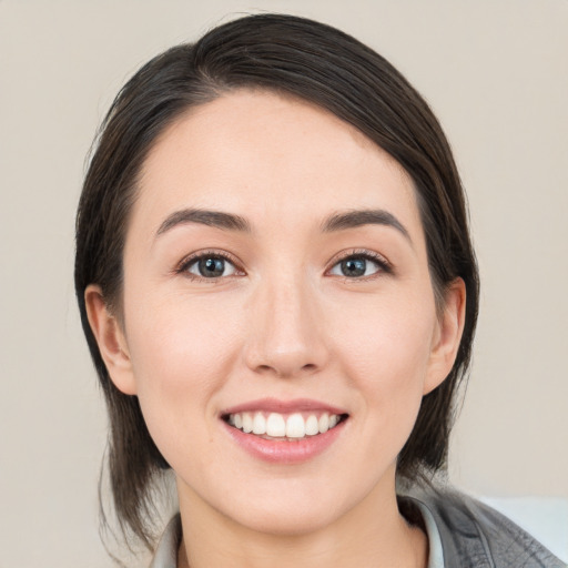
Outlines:
{"label": "grey jacket shoulder at the lower right, below the hair", "polygon": [[412,491],[432,513],[445,566],[463,568],[566,568],[566,564],[510,519],[455,490]]}

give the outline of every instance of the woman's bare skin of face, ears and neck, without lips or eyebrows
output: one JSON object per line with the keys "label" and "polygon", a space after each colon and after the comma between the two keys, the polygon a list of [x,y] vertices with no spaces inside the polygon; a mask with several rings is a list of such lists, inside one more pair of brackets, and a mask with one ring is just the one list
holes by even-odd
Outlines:
{"label": "woman's bare skin of face, ears and neck, without lips or eyebrows", "polygon": [[[192,222],[160,232],[189,207],[239,215],[250,231]],[[353,210],[386,211],[407,234],[322,230]],[[200,276],[195,263],[180,272],[200,251],[229,255],[226,275]],[[363,254],[386,267],[367,260],[366,275],[343,275],[339,261]],[[122,314],[97,285],[85,297],[114,384],[139,396],[176,474],[179,566],[426,566],[426,536],[397,509],[396,456],[422,397],[452,369],[465,290],[454,282],[436,311],[413,183],[362,133],[267,92],[192,109],[143,166]],[[268,464],[220,419],[266,396],[349,417],[316,457]]]}

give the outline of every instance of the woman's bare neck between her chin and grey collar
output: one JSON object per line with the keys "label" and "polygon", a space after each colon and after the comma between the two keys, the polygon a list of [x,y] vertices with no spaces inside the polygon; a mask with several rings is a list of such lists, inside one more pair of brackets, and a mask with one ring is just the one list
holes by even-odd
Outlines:
{"label": "woman's bare neck between her chin and grey collar", "polygon": [[398,511],[394,479],[334,523],[302,534],[250,529],[181,493],[183,540],[179,568],[426,568],[426,535]]}

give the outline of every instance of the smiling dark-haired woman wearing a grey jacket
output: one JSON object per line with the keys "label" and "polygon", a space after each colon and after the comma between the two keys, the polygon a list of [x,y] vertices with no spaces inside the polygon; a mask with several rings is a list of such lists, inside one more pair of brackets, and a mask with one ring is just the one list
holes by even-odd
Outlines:
{"label": "smiling dark-haired woman wearing a grey jacket", "polygon": [[429,487],[477,267],[438,122],[353,38],[263,14],[143,67],[89,168],[75,287],[149,546],[175,474],[154,567],[561,566]]}

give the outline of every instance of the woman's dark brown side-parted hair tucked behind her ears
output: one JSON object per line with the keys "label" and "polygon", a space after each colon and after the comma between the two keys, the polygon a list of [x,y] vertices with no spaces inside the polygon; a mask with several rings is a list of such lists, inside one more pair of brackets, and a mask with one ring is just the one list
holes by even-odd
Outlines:
{"label": "woman's dark brown side-parted hair tucked behind her ears", "polygon": [[466,322],[446,381],[423,398],[397,475],[413,480],[445,466],[455,394],[469,364],[479,284],[465,195],[442,128],[418,92],[383,57],[329,26],[258,14],[174,47],[138,71],[114,100],[98,139],[77,215],[75,291],[81,321],[110,416],[109,470],[124,532],[151,542],[151,487],[168,464],[135,396],[111,382],[90,328],[84,292],[101,286],[120,317],[122,257],[136,176],[164,129],[191,106],[235,89],[276,91],[310,101],[353,124],[414,181],[438,306],[456,277],[466,285]]}

